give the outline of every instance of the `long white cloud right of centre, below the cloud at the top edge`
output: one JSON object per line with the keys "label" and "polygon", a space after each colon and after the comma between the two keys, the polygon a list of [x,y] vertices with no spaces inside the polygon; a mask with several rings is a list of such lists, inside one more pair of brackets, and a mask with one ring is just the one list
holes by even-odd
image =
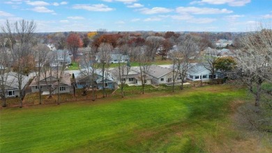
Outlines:
{"label": "long white cloud right of centre, below the cloud at the top edge", "polygon": [[221,13],[233,13],[232,10],[227,10],[226,8],[197,8],[197,7],[179,7],[176,8],[177,13],[181,14],[221,14]]}

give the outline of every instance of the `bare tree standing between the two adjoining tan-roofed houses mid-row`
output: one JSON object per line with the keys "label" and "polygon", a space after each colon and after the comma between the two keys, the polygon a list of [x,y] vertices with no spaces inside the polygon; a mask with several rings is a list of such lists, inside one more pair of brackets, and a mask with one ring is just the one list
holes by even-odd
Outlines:
{"label": "bare tree standing between the two adjoining tan-roofed houses mid-row", "polygon": [[142,94],[144,94],[144,86],[146,83],[147,74],[152,64],[152,57],[149,56],[149,52],[146,46],[136,47],[139,54],[137,61],[139,63],[140,80],[142,82]]}

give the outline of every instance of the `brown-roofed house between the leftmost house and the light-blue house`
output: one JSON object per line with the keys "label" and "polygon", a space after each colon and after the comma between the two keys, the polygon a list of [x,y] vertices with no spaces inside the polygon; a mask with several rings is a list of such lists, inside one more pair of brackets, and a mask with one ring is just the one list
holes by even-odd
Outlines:
{"label": "brown-roofed house between the leftmost house and the light-blue house", "polygon": [[[60,75],[60,74],[59,74]],[[49,94],[50,88],[53,89],[53,94],[56,94],[58,92],[58,80],[55,72],[52,72],[52,75],[50,75],[49,72],[46,74],[40,74],[40,89],[43,92],[43,94]],[[29,85],[31,87],[31,92],[39,92],[38,82],[37,82],[37,76],[33,78],[31,84]],[[60,86],[59,86],[59,92],[60,93],[69,93],[71,92],[71,81],[70,81],[70,74],[64,73],[61,76]]]}

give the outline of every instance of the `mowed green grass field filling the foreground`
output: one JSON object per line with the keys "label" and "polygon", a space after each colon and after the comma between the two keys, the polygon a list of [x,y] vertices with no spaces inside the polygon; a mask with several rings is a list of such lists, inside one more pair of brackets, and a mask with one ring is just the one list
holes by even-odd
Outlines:
{"label": "mowed green grass field filling the foreground", "polygon": [[233,101],[245,96],[218,85],[4,108],[0,152],[213,152],[239,137],[229,115]]}

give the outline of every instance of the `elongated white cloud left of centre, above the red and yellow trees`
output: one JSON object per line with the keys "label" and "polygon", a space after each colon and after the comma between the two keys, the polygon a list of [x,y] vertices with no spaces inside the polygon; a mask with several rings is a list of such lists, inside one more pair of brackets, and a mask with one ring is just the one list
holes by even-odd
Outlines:
{"label": "elongated white cloud left of centre, above the red and yellow trees", "polygon": [[74,9],[82,9],[82,10],[89,10],[89,11],[100,11],[100,12],[107,12],[112,11],[114,8],[109,8],[108,6],[104,5],[103,3],[100,4],[76,4],[73,6]]}

